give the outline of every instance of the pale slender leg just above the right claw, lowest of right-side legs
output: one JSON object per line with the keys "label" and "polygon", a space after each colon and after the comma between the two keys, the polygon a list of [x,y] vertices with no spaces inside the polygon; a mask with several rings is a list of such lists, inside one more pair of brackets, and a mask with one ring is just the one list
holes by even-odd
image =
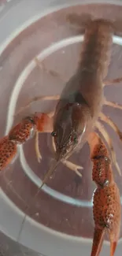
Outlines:
{"label": "pale slender leg just above the right claw, lowest of right-side legs", "polygon": [[115,151],[113,149],[113,143],[112,143],[112,140],[109,137],[108,132],[105,130],[104,126],[98,121],[96,122],[95,127],[98,128],[98,131],[101,132],[102,136],[105,139],[105,142],[108,144],[109,150],[110,150],[111,155],[112,155],[113,164],[115,165],[116,170],[118,171],[118,173],[121,175],[120,167],[119,167],[119,165],[117,164],[117,161],[116,161],[116,154],[115,154]]}

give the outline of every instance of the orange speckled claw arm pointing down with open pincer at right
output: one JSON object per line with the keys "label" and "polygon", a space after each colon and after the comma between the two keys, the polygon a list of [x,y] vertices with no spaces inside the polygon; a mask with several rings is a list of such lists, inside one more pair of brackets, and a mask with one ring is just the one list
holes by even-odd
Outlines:
{"label": "orange speckled claw arm pointing down with open pincer at right", "polygon": [[120,236],[120,192],[113,179],[109,153],[104,143],[92,133],[89,145],[94,164],[92,179],[98,186],[93,199],[95,228],[91,256],[100,254],[105,232],[109,233],[110,256],[113,256]]}

